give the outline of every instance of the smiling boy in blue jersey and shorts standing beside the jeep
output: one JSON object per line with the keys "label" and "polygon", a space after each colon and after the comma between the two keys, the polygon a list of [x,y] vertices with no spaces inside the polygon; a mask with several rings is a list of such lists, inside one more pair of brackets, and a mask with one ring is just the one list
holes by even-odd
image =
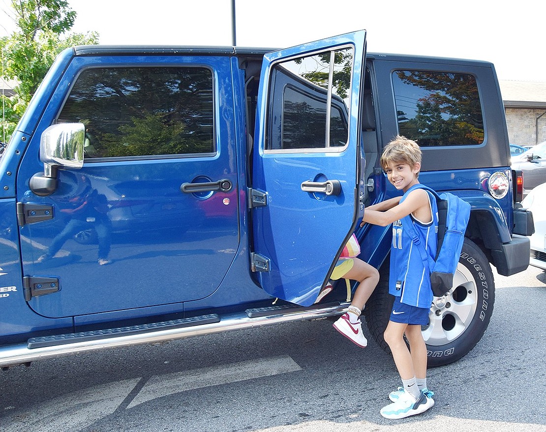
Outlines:
{"label": "smiling boy in blue jersey and shorts standing beside the jeep", "polygon": [[395,296],[395,301],[384,338],[393,353],[403,389],[399,387],[390,393],[393,403],[380,411],[385,418],[413,416],[434,405],[434,393],[426,388],[426,345],[421,333],[421,326],[429,323],[433,299],[430,274],[418,251],[412,249],[412,239],[401,223],[403,217],[411,215],[414,229],[434,258],[438,226],[436,200],[426,190],[411,189],[419,184],[421,157],[417,143],[403,136],[397,136],[385,147],[380,159],[381,166],[389,182],[404,195],[398,202],[391,199],[367,207],[361,224],[393,224],[389,293]]}

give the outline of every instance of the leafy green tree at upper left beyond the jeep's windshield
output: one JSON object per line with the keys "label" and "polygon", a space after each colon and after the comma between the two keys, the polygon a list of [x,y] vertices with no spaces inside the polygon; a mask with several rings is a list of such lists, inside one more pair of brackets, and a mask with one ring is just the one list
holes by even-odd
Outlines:
{"label": "leafy green tree at upper left beyond the jeep's windshield", "polygon": [[4,118],[0,140],[9,140],[32,95],[54,62],[67,47],[98,43],[98,33],[68,33],[76,13],[66,0],[11,0],[16,31],[0,38],[1,69],[5,80],[14,80],[15,95],[3,98]]}

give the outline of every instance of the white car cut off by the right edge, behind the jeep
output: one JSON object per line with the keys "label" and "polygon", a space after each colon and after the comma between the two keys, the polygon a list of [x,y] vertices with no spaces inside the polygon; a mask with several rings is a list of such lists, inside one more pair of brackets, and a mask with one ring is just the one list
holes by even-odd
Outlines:
{"label": "white car cut off by the right edge, behind the jeep", "polygon": [[531,260],[529,263],[546,270],[546,183],[533,188],[521,201],[521,205],[533,213],[535,221],[535,233],[530,237]]}

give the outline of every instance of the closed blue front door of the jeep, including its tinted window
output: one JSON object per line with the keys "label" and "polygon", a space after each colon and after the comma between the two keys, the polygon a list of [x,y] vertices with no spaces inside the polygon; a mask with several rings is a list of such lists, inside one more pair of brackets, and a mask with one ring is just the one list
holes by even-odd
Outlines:
{"label": "closed blue front door of the jeep, including its tinted window", "polygon": [[[52,100],[40,125],[84,123],[86,157],[81,170],[60,170],[58,189],[40,199],[54,218],[20,227],[23,273],[60,286],[30,307],[61,317],[210,295],[240,237],[229,57],[87,64],[92,56],[73,60],[60,83],[69,97]],[[36,201],[27,179],[43,170],[39,139],[38,131],[21,163],[23,203]],[[96,243],[75,241],[81,230],[96,232]]]}

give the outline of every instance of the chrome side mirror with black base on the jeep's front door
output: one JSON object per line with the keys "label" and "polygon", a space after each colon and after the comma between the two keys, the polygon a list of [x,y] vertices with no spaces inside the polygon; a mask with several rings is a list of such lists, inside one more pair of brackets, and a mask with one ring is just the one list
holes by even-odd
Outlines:
{"label": "chrome side mirror with black base on the jeep's front door", "polygon": [[57,190],[57,170],[79,170],[84,165],[85,125],[61,123],[51,125],[41,134],[40,160],[44,172],[35,173],[29,186],[38,196],[48,196]]}

